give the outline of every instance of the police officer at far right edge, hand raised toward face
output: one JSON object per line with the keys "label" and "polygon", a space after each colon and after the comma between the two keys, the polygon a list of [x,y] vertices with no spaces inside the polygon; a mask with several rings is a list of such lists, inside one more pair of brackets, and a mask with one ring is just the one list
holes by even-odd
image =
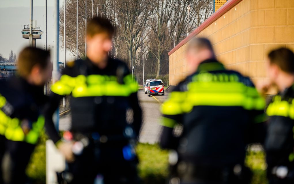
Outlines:
{"label": "police officer at far right edge, hand raised toward face", "polygon": [[261,85],[263,93],[278,89],[266,113],[265,140],[268,179],[270,184],[294,183],[294,54],[280,48],[268,54],[268,82]]}

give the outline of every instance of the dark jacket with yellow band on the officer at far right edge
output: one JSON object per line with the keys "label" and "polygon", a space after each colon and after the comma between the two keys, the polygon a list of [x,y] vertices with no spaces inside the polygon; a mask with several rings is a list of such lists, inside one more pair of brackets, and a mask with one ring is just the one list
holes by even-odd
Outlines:
{"label": "dark jacket with yellow band on the officer at far right edge", "polygon": [[275,166],[294,169],[294,84],[273,97],[266,110],[269,116],[265,150],[268,170]]}

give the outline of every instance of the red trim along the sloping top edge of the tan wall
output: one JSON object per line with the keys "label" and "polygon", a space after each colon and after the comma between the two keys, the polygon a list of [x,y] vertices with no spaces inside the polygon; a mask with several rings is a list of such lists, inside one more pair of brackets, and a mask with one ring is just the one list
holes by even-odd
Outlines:
{"label": "red trim along the sloping top edge of the tan wall", "polygon": [[180,47],[182,47],[184,44],[186,44],[189,40],[194,38],[197,34],[199,34],[206,27],[208,27],[210,24],[212,24],[214,21],[216,21],[218,18],[220,18],[223,14],[225,14],[227,11],[229,11],[231,8],[233,8],[240,1],[242,1],[242,0],[229,0],[229,1],[227,1],[222,7],[220,7],[220,9],[218,9],[218,11],[216,11],[208,19],[206,19],[206,21],[204,21],[200,26],[198,26],[197,29],[195,29],[185,39],[183,39],[180,43],[178,43],[176,45],[176,47],[171,49],[171,51],[168,52],[168,55],[171,55],[174,52],[176,52],[176,50],[178,50]]}

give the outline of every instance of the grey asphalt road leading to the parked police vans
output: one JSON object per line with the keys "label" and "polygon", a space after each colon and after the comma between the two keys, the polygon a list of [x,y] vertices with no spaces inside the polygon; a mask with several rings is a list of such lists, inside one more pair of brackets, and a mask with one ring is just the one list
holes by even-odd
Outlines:
{"label": "grey asphalt road leading to the parked police vans", "polygon": [[[158,142],[161,133],[160,125],[160,105],[168,97],[167,93],[164,96],[154,95],[148,97],[144,92],[138,92],[138,98],[143,110],[143,123],[139,136],[139,141],[144,143],[154,144]],[[64,113],[59,120],[59,130],[69,130],[71,126],[70,111]]]}

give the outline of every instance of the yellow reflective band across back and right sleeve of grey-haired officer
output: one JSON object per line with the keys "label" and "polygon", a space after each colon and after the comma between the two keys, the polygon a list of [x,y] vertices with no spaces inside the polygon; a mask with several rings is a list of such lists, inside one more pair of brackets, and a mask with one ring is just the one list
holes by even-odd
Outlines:
{"label": "yellow reflective band across back and right sleeve of grey-haired officer", "polygon": [[[206,76],[206,81],[210,81]],[[230,80],[230,77],[228,77]],[[222,79],[222,81],[227,79]],[[190,82],[188,84],[185,112],[193,106],[237,106],[246,110],[263,110],[265,100],[254,87],[247,87],[241,82]],[[190,104],[190,105],[189,105]],[[189,107],[189,108],[188,108]]]}

